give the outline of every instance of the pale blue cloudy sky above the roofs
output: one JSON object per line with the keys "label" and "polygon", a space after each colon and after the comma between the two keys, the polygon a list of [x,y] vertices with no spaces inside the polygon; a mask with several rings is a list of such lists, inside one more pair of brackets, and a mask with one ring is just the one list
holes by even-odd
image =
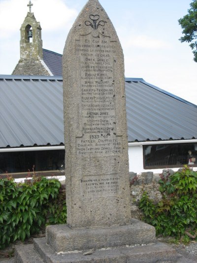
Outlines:
{"label": "pale blue cloudy sky above the roofs", "polygon": [[[125,57],[125,76],[140,77],[197,105],[197,63],[181,43],[178,19],[192,0],[99,0],[112,21]],[[87,0],[32,0],[43,48],[63,53],[67,34]],[[20,59],[20,27],[29,0],[0,0],[0,75]],[[162,107],[162,105],[161,105]]]}

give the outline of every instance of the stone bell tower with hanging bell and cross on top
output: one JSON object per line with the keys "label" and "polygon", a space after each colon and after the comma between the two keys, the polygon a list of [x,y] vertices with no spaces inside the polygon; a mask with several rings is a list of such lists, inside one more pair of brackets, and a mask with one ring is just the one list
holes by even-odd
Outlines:
{"label": "stone bell tower with hanging bell and cross on top", "polygon": [[29,1],[29,12],[20,28],[20,60],[12,75],[52,75],[43,61],[42,29],[34,17],[32,6]]}

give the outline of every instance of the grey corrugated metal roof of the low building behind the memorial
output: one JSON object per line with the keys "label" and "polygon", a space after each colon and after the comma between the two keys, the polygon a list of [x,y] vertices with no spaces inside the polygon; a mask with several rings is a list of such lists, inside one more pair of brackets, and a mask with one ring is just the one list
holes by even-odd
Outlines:
{"label": "grey corrugated metal roof of the low building behind the memorial", "polygon": [[[61,76],[0,75],[0,148],[64,144]],[[129,142],[197,139],[197,106],[126,78]]]}

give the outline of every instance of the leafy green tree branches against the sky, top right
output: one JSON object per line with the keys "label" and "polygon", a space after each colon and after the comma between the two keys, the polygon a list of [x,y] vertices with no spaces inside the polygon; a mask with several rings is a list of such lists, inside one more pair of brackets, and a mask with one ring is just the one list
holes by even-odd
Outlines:
{"label": "leafy green tree branches against the sky, top right", "polygon": [[179,40],[191,43],[190,47],[193,50],[194,61],[197,62],[197,0],[193,0],[190,6],[188,14],[178,20],[184,34],[184,37],[181,37]]}

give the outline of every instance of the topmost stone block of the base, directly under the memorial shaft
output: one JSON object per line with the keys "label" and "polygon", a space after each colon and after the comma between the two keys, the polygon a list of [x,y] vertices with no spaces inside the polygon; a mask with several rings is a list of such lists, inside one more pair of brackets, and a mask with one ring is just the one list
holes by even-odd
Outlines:
{"label": "topmost stone block of the base, directly under the memorial shaft", "polygon": [[155,242],[155,227],[132,219],[131,225],[74,228],[67,225],[49,225],[47,244],[55,252],[89,250],[148,244]]}

